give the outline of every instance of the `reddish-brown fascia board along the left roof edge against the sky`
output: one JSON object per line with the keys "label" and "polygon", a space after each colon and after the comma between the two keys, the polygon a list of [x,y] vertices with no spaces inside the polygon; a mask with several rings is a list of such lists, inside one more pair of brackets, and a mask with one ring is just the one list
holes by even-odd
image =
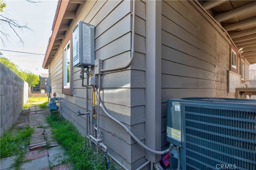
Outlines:
{"label": "reddish-brown fascia board along the left roof edge against the sky", "polygon": [[58,33],[58,30],[60,28],[61,21],[62,21],[62,19],[64,17],[64,14],[66,12],[67,7],[68,7],[68,2],[69,2],[69,0],[62,0],[60,2],[60,9],[58,11],[58,15],[57,15],[56,21],[53,24],[54,28],[52,30],[52,36],[50,38],[50,42],[49,42],[48,48],[46,49],[46,55],[45,55],[44,62],[43,62],[43,65],[42,65],[43,68],[46,66],[46,63],[47,63],[50,51],[51,51],[52,46],[54,44],[54,40],[55,40],[56,35]]}

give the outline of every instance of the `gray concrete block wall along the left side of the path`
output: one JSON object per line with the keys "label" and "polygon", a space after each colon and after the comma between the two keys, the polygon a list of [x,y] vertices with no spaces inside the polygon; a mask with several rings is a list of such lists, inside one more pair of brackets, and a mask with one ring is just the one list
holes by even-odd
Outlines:
{"label": "gray concrete block wall along the left side of the path", "polygon": [[0,73],[0,127],[3,135],[19,117],[28,99],[28,92],[26,92],[28,83],[2,63],[0,63]]}

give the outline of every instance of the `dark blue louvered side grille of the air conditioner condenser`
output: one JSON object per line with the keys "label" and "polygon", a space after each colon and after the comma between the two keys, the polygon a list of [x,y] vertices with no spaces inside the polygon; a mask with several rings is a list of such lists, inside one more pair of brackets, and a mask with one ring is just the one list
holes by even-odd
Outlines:
{"label": "dark blue louvered side grille of the air conditioner condenser", "polygon": [[183,103],[182,170],[256,169],[255,105]]}

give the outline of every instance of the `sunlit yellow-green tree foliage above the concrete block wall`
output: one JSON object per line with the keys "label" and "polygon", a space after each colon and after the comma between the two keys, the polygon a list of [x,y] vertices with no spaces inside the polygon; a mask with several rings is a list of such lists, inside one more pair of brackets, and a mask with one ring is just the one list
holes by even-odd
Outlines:
{"label": "sunlit yellow-green tree foliage above the concrete block wall", "polygon": [[38,75],[35,75],[31,71],[20,69],[18,65],[12,63],[10,59],[2,57],[2,53],[0,54],[0,56],[0,62],[12,72],[14,72],[16,75],[18,75],[22,80],[26,81],[29,87],[34,87],[39,83],[40,79]]}

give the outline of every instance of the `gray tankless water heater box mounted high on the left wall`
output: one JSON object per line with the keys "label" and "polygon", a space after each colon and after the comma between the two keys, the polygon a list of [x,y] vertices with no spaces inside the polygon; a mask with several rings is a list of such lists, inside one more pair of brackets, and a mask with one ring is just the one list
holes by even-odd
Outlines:
{"label": "gray tankless water heater box mounted high on the left wall", "polygon": [[72,32],[73,66],[94,65],[94,26],[79,21]]}

